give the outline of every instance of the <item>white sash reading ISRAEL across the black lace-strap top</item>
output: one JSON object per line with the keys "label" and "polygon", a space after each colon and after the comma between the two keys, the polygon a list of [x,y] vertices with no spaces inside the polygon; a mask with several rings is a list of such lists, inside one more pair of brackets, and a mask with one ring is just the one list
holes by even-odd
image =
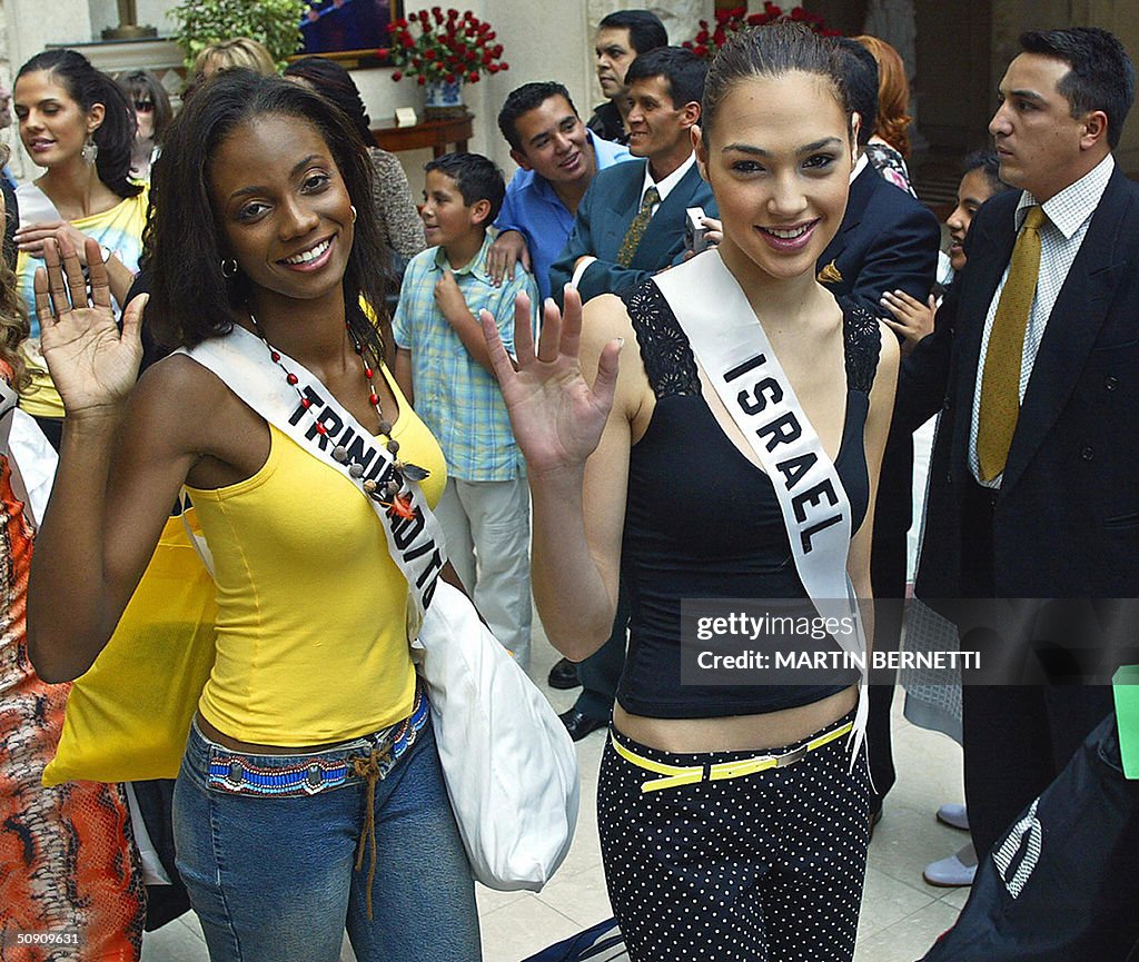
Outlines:
{"label": "white sash reading ISRAEL across the black lace-strap top", "polygon": [[760,459],[779,499],[795,568],[823,618],[853,616],[843,651],[861,666],[851,734],[851,766],[866,734],[867,646],[858,599],[846,574],[851,505],[834,461],[806,419],[763,326],[715,249],[653,278],[693,353],[732,420]]}

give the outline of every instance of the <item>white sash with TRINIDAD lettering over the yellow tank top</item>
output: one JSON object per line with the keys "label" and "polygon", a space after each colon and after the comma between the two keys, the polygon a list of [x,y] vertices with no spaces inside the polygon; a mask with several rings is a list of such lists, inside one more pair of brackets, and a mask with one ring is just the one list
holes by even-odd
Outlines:
{"label": "white sash with TRINIDAD lettering over the yellow tank top", "polygon": [[[418,484],[404,479],[401,494],[410,498],[408,516],[398,513],[391,503],[384,502],[380,492],[387,482],[400,480],[395,459],[316,375],[279,348],[273,350],[281,363],[296,375],[295,386],[281,376],[261,338],[239,324],[228,335],[210,338],[189,350],[179,348],[177,353],[213,371],[269,424],[352,482],[379,517],[388,551],[407,578],[421,617],[431,606],[435,583],[448,560],[443,532],[427,499]],[[318,425],[323,427],[323,433]],[[363,466],[360,477],[350,472],[347,462],[333,458],[331,452],[338,446],[347,451],[350,462]],[[366,480],[376,483],[374,494],[364,491]]]}

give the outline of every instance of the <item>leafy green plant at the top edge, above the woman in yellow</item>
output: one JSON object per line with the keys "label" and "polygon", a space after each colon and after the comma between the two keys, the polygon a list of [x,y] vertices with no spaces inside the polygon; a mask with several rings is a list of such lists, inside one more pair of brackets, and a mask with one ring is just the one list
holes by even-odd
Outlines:
{"label": "leafy green plant at the top edge, above the woman in yellow", "polygon": [[178,23],[174,41],[186,54],[186,66],[211,43],[248,36],[260,41],[285,66],[301,49],[301,20],[308,0],[182,0],[167,16]]}

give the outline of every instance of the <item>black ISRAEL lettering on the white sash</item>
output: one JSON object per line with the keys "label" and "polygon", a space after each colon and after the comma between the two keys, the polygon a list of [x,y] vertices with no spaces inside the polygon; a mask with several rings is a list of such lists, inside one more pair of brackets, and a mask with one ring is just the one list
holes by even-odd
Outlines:
{"label": "black ISRAEL lettering on the white sash", "polygon": [[[723,379],[730,384],[748,371],[762,368],[767,363],[768,359],[764,354],[756,354],[751,360],[729,370]],[[736,403],[748,417],[757,417],[767,411],[769,405],[771,406],[770,420],[755,429],[755,434],[765,439],[764,445],[769,453],[775,453],[780,445],[794,444],[803,436],[803,426],[798,416],[784,403],[784,397],[782,386],[773,377],[762,377],[751,388],[740,390],[736,395]],[[776,462],[776,469],[782,476],[786,491],[794,492],[800,482],[814,469],[818,461],[819,455],[808,451],[803,454],[789,454],[785,460]],[[772,478],[773,482],[775,478]],[[813,546],[811,540],[814,535],[843,520],[841,511],[825,513],[828,507],[838,505],[838,495],[835,493],[834,483],[827,477],[803,491],[792,493],[790,504],[795,520],[798,523],[798,536],[803,543],[804,554],[811,552]],[[820,510],[811,511],[812,508]],[[819,513],[823,513],[823,517],[814,517]]]}

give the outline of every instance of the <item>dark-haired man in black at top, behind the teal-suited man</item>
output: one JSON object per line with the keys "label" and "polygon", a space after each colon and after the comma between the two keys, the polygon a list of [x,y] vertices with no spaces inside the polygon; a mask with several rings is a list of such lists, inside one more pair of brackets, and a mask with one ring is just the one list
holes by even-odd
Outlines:
{"label": "dark-haired man in black at top, behind the teal-suited man", "polygon": [[648,10],[617,10],[597,27],[593,54],[597,80],[608,100],[593,109],[587,126],[598,137],[628,143],[629,84],[625,73],[641,54],[666,47],[669,34],[661,19]]}

